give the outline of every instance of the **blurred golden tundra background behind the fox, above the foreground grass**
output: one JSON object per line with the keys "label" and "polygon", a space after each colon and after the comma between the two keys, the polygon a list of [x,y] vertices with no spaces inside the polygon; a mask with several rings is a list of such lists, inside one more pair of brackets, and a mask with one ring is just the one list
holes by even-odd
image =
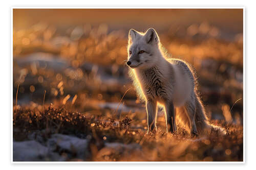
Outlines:
{"label": "blurred golden tundra background behind the fox, above the foreground grass", "polygon": [[194,65],[211,119],[243,124],[243,9],[14,9],[14,105],[19,86],[19,106],[145,117],[125,65],[132,28]]}

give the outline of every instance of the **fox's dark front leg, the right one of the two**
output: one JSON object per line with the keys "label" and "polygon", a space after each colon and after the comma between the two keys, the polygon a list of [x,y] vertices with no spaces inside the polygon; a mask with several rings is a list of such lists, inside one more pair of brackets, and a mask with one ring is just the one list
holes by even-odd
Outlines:
{"label": "fox's dark front leg, the right one of the two", "polygon": [[[173,102],[165,102],[165,114],[166,114],[166,129],[167,132],[170,131],[172,133],[177,132],[177,126],[175,121],[175,108]],[[168,129],[168,124],[170,125],[170,129]]]}

